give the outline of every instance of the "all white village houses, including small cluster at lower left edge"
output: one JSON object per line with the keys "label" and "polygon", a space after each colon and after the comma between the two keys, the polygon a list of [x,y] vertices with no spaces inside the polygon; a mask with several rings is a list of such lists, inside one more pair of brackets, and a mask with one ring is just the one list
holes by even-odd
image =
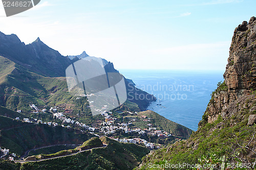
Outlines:
{"label": "all white village houses, including small cluster at lower left edge", "polygon": [[[48,121],[43,121],[38,118],[33,118],[30,116],[29,118],[20,118],[16,117],[16,120],[31,123],[31,124],[45,124],[48,126],[61,126],[63,128],[76,128],[79,129],[81,133],[90,133],[95,136],[109,136],[111,139],[114,139],[119,142],[124,143],[134,143],[139,145],[144,145],[149,150],[159,149],[161,144],[153,143],[142,139],[140,137],[136,137],[138,135],[147,135],[147,136],[155,136],[159,138],[167,138],[172,136],[166,131],[159,130],[159,128],[154,127],[151,123],[151,117],[147,117],[145,115],[139,115],[137,112],[129,112],[126,111],[128,115],[132,117],[139,117],[140,120],[146,125],[146,128],[139,128],[134,126],[133,124],[136,123],[138,120],[136,118],[132,118],[127,120],[126,122],[118,123],[117,118],[113,116],[114,114],[111,111],[102,111],[101,112],[101,120],[96,120],[96,124],[92,124],[91,126],[81,123],[75,117],[70,116],[71,111],[66,109],[66,106],[54,106],[54,107],[37,107],[35,104],[29,105],[31,110],[30,113],[33,114],[52,114],[53,119]],[[107,106],[105,106],[107,107]],[[63,110],[63,111],[61,111]],[[22,113],[22,110],[17,110],[18,113]],[[124,112],[118,112],[118,114],[122,114]],[[72,114],[73,115],[73,114]],[[134,137],[116,137],[115,134],[117,132],[123,132],[124,134],[129,134]],[[134,135],[133,135],[134,134]],[[10,153],[9,149],[1,149],[0,148],[0,158],[8,157],[9,160],[18,159],[15,153]]]}

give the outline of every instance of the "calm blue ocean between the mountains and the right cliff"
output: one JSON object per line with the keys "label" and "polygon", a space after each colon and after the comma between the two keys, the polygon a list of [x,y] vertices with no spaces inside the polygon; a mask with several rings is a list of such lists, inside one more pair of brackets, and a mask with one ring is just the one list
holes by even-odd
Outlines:
{"label": "calm blue ocean between the mountains and the right cliff", "polygon": [[158,99],[148,109],[191,130],[198,123],[224,71],[119,69],[137,88]]}

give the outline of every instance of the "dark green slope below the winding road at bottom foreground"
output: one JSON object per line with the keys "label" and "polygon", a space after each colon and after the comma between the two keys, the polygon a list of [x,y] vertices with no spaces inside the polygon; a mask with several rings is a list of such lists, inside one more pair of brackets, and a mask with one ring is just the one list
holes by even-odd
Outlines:
{"label": "dark green slope below the winding road at bottom foreground", "polygon": [[102,137],[106,148],[93,149],[73,156],[25,163],[21,169],[133,169],[149,151],[132,143],[121,143]]}

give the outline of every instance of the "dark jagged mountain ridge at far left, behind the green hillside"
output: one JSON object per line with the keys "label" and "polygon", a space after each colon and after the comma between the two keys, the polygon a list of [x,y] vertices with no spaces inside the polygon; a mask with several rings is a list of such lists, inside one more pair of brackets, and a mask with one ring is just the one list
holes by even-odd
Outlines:
{"label": "dark jagged mountain ridge at far left, behind the green hillside", "polygon": [[71,64],[69,58],[61,56],[39,37],[25,45],[15,34],[0,33],[0,55],[42,76],[65,76],[65,69]]}

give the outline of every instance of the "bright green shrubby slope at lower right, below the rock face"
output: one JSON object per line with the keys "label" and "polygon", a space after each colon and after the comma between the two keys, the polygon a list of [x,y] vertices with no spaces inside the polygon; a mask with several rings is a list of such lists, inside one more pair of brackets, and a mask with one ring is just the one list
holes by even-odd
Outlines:
{"label": "bright green shrubby slope at lower right, below the rock face", "polygon": [[[245,102],[237,104],[240,109],[237,109],[238,111],[235,114],[225,117],[225,119],[219,115],[215,122],[207,123],[204,120],[207,116],[203,115],[201,122],[204,123],[201,123],[199,129],[191,134],[189,139],[168,145],[147,155],[143,160],[142,169],[149,169],[147,168],[148,163],[161,162],[164,159],[171,164],[202,163],[200,159],[216,163],[221,162],[224,155],[227,162],[233,160],[235,155],[243,157],[248,162],[254,162],[256,155],[247,149],[242,151],[239,147],[239,144],[245,146],[249,143],[251,137],[256,133],[256,124],[253,126],[247,125],[249,115],[256,113],[255,94],[247,95],[246,98]],[[248,147],[252,148],[253,142]],[[236,164],[238,159],[234,160]]]}

